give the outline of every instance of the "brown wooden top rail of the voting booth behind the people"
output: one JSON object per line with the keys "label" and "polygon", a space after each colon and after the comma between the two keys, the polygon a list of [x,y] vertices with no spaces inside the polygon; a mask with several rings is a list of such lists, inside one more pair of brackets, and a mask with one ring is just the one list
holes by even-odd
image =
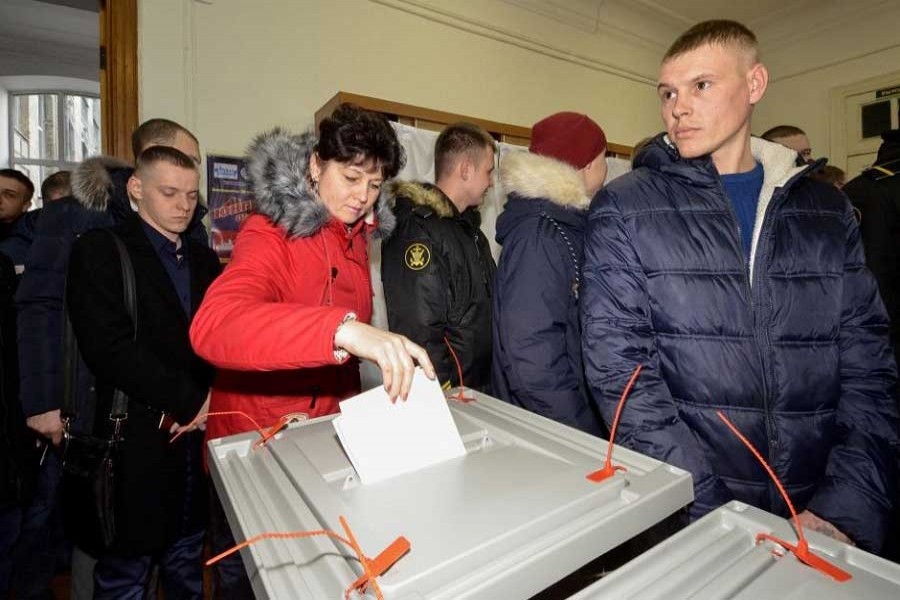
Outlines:
{"label": "brown wooden top rail of the voting booth behind the people", "polygon": [[[366,110],[382,113],[391,121],[397,121],[404,125],[420,127],[430,131],[440,131],[451,123],[468,121],[490,133],[491,136],[499,142],[527,146],[531,140],[530,127],[498,123],[496,121],[488,121],[477,117],[423,108],[421,106],[403,104],[402,102],[393,102],[391,100],[382,100],[381,98],[373,98],[361,94],[351,94],[349,92],[338,92],[332,96],[328,102],[323,104],[322,108],[316,111],[315,122],[317,131],[322,120],[333,113],[334,109],[337,108],[339,104],[344,102],[352,102]],[[609,143],[608,147],[609,156],[624,159],[631,158],[631,153],[634,150],[631,146],[626,146],[624,144]]]}

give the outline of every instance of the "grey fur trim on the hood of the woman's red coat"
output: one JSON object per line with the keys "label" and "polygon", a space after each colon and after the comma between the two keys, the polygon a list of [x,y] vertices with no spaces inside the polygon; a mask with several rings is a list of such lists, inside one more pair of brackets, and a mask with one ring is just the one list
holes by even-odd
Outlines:
{"label": "grey fur trim on the hood of the woman's red coat", "polygon": [[[276,127],[257,136],[247,151],[255,210],[283,228],[288,237],[314,235],[332,218],[310,186],[309,157],[315,145],[312,132],[298,135]],[[396,225],[384,195],[375,202],[380,237],[390,235]]]}

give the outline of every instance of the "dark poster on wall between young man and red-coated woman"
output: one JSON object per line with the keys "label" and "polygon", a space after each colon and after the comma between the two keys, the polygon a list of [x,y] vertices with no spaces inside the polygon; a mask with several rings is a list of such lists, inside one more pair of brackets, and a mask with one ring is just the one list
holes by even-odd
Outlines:
{"label": "dark poster on wall between young man and red-coated woman", "polygon": [[243,158],[208,154],[206,165],[210,244],[219,258],[229,259],[241,223],[253,210],[253,186]]}

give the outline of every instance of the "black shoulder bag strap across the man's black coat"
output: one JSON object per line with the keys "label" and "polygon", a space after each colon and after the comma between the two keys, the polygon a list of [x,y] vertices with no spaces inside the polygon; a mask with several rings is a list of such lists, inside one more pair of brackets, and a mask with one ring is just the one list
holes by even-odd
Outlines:
{"label": "black shoulder bag strap across the man's black coat", "polygon": [[[137,340],[137,293],[135,291],[134,282],[134,266],[131,264],[131,257],[128,255],[128,249],[122,239],[113,231],[105,230],[112,236],[116,245],[116,251],[119,254],[119,264],[122,269],[122,288],[125,298],[125,310],[131,317],[134,326],[134,336],[132,339]],[[75,402],[75,390],[78,389],[78,339],[75,337],[75,329],[72,327],[72,320],[69,318],[69,311],[63,311],[65,315],[65,328],[63,330],[63,394],[60,406],[62,416],[67,420],[74,421],[78,416],[78,409]],[[112,406],[109,411],[111,420],[122,420],[128,417],[128,396],[119,389],[113,391]]]}

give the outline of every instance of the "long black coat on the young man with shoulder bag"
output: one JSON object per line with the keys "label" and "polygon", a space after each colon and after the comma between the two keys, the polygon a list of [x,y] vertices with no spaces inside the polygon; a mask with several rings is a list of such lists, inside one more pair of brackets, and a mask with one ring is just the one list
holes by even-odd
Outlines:
{"label": "long black coat on the young man with shoulder bag", "polygon": [[213,369],[194,354],[188,328],[221,267],[212,250],[187,241],[189,317],[141,220],[131,215],[111,229],[125,243],[134,266],[137,340],[132,339],[134,325],[122,296],[114,240],[105,231],[88,232],[73,245],[66,308],[79,350],[96,376],[98,435],[109,433],[113,389],[129,397],[117,467],[122,478],[116,523],[121,543],[110,554],[137,556],[159,552],[204,525],[203,433],[185,434],[170,444],[169,432],[158,425],[161,412],[182,425],[189,423],[206,399]]}

